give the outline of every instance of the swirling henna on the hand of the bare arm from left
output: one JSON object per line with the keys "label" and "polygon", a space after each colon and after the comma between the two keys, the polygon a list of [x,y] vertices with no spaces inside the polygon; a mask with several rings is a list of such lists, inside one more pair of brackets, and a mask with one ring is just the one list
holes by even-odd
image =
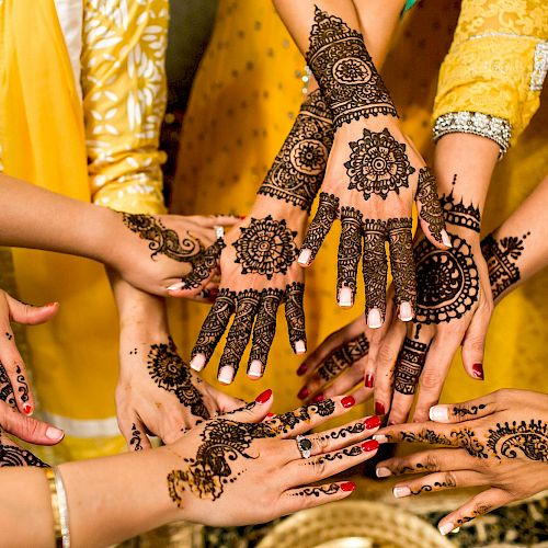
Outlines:
{"label": "swirling henna on the hand of the bare arm from left", "polygon": [[189,262],[197,253],[204,251],[202,242],[190,232],[180,241],[178,233],[165,228],[161,220],[151,215],[122,214],[124,225],[135,232],[141,240],[148,240],[148,249],[152,251],[153,259],[159,253],[173,259],[173,261]]}

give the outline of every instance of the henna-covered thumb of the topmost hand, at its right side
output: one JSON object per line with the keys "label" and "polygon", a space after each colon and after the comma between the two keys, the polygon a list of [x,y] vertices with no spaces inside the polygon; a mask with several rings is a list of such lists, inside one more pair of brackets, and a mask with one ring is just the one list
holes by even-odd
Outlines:
{"label": "henna-covered thumb of the topmost hand, at its right side", "polygon": [[436,248],[450,248],[450,238],[445,230],[444,215],[437,194],[436,176],[426,167],[419,171],[415,201],[419,221],[426,238]]}

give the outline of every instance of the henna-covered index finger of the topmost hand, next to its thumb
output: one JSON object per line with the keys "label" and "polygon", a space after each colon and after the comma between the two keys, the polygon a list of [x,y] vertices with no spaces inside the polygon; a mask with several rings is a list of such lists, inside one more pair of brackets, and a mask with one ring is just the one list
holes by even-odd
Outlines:
{"label": "henna-covered index finger of the topmost hand, next to its thumb", "polygon": [[416,305],[416,278],[411,219],[389,219],[390,269],[396,290],[396,306],[401,321],[413,319]]}

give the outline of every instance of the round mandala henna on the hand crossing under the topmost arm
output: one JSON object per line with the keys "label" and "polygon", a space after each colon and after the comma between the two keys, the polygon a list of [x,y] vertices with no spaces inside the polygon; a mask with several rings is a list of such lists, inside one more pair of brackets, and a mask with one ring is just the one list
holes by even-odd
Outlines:
{"label": "round mandala henna on the hand crossing under the topmost arm", "polygon": [[261,274],[267,279],[277,273],[287,274],[297,258],[297,232],[287,228],[285,219],[276,220],[271,215],[264,219],[251,218],[249,226],[240,231],[232,246],[242,274]]}

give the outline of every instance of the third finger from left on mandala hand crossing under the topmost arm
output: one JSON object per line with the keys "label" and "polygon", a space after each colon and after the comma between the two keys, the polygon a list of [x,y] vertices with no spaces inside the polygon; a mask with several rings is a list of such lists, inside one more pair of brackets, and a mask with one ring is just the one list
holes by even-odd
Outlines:
{"label": "third finger from left on mandala hand crossing under the topmost arm", "polygon": [[276,334],[276,315],[283,296],[282,289],[271,288],[263,289],[261,294],[248,363],[248,376],[253,379],[263,376],[272,341]]}

